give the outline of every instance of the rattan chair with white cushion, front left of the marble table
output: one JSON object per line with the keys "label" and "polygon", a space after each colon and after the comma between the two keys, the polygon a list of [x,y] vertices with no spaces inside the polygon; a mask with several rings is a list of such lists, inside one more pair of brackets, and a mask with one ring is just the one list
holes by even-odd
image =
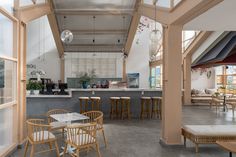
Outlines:
{"label": "rattan chair with white cushion, front left of the marble table", "polygon": [[[43,119],[29,119],[26,121],[28,128],[28,136],[27,142],[25,145],[24,157],[26,157],[26,153],[29,147],[29,144],[32,145],[30,157],[34,156],[35,153],[35,145],[39,144],[49,144],[50,149],[47,151],[52,151],[52,144],[54,143],[57,157],[59,157],[59,149],[56,141],[56,137],[53,133],[50,132],[51,126],[44,124]],[[41,151],[41,153],[46,152]],[[40,153],[40,152],[37,152]]]}

